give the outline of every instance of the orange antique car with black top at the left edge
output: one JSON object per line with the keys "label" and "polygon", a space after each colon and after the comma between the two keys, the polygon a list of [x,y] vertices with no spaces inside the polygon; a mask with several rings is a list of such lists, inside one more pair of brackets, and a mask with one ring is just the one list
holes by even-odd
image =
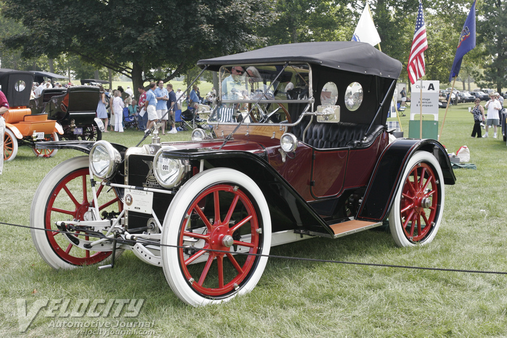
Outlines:
{"label": "orange antique car with black top at the left edge", "polygon": [[38,157],[51,157],[55,150],[36,149],[37,141],[58,140],[63,129],[56,121],[48,120],[47,114],[31,114],[27,107],[33,85],[31,71],[18,71],[0,68],[0,86],[9,101],[9,111],[4,114],[6,129],[4,134],[4,161],[11,161],[18,153],[19,145],[32,147]]}

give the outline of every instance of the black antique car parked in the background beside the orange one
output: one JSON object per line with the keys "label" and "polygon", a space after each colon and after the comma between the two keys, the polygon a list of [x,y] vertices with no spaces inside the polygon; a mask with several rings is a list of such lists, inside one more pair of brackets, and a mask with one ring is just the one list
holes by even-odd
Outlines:
{"label": "black antique car parked in the background beside the orange one", "polygon": [[99,88],[96,86],[73,86],[48,88],[40,97],[30,100],[32,114],[48,114],[62,129],[63,140],[98,141],[102,139],[104,125],[96,117]]}

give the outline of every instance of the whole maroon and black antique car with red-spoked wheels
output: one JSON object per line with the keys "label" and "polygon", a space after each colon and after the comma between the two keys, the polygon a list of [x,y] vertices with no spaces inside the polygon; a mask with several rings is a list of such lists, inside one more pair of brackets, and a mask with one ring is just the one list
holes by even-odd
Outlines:
{"label": "whole maroon and black antique car with red-spoked wheels", "polygon": [[220,77],[215,108],[199,108],[215,137],[40,145],[88,154],[51,170],[33,199],[31,226],[46,230],[33,243],[51,267],[111,267],[132,250],[199,306],[251,291],[274,245],[386,220],[398,246],[436,237],[456,178],[438,141],[389,142],[399,61],[366,43],[315,42],[198,65]]}

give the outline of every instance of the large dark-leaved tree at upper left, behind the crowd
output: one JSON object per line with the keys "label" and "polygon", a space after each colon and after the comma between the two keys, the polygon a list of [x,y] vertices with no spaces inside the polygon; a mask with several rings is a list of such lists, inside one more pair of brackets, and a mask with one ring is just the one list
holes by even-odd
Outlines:
{"label": "large dark-leaved tree at upper left, behind the crowd", "polygon": [[[23,57],[80,56],[96,67],[124,74],[136,88],[156,79],[152,70],[159,67],[173,70],[162,79],[168,81],[201,58],[259,46],[263,41],[255,31],[269,12],[267,4],[267,0],[173,0],[142,6],[135,0],[5,0],[4,13],[22,22],[26,31],[4,42],[21,48]],[[138,6],[136,15],[127,10]]]}

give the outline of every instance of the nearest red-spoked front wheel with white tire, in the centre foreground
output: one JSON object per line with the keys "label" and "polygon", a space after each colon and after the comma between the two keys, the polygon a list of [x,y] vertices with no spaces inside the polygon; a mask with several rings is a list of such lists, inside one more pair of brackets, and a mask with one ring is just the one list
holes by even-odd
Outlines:
{"label": "nearest red-spoked front wheel with white tire, in the centre foreground", "polygon": [[237,253],[269,253],[271,222],[262,191],[232,169],[199,173],[174,197],[162,244],[179,247],[163,246],[162,264],[169,285],[184,302],[224,302],[252,290],[267,257]]}

